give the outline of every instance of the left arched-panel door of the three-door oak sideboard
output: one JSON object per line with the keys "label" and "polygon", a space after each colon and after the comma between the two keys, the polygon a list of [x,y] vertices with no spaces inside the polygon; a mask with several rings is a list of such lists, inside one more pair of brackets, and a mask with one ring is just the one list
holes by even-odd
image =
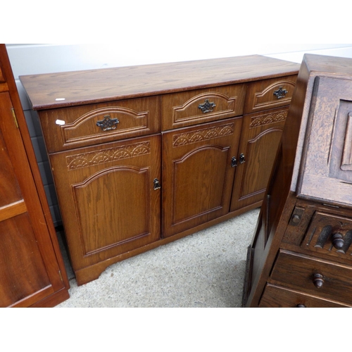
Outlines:
{"label": "left arched-panel door of the three-door oak sideboard", "polygon": [[51,154],[75,271],[160,238],[160,143],[154,135]]}

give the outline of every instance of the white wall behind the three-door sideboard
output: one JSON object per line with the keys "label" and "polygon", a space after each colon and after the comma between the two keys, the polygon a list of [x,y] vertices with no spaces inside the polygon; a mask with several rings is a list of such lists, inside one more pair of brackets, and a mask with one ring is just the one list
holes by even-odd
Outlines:
{"label": "white wall behind the three-door sideboard", "polygon": [[[181,38],[180,42],[163,42],[159,38],[158,42],[148,43],[141,42],[143,35],[141,38],[137,37],[137,39],[134,37],[134,40],[125,38],[124,45],[112,42],[105,44],[6,44],[55,225],[61,225],[61,214],[44,140],[37,113],[30,108],[22,84],[18,80],[19,75],[251,54],[262,54],[297,63],[301,62],[305,53],[352,58],[352,44],[258,44],[255,42],[235,44],[226,36],[215,38],[214,35],[201,38],[187,37],[187,40],[183,42]],[[161,38],[163,39],[162,35]]]}

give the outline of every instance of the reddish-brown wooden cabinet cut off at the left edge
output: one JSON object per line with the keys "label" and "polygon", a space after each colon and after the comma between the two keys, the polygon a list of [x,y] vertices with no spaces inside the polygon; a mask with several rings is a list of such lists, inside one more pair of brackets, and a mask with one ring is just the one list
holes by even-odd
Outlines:
{"label": "reddish-brown wooden cabinet cut off at the left edge", "polygon": [[0,307],[51,307],[69,298],[5,44],[0,44]]}

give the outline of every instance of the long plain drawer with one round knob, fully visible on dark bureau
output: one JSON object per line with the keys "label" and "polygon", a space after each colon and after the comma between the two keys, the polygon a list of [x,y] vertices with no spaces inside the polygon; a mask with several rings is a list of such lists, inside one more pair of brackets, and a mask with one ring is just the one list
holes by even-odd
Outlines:
{"label": "long plain drawer with one round knob, fully visible on dark bureau", "polygon": [[348,265],[280,251],[270,283],[327,300],[351,304],[351,277],[352,268]]}

